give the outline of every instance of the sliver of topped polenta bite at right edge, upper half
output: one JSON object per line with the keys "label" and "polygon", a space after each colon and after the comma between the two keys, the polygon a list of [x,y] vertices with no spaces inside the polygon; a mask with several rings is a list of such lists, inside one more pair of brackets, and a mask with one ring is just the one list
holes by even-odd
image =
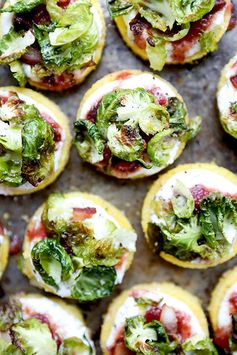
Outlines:
{"label": "sliver of topped polenta bite at right edge, upper half", "polygon": [[217,105],[224,130],[237,138],[237,55],[229,61],[221,73]]}

